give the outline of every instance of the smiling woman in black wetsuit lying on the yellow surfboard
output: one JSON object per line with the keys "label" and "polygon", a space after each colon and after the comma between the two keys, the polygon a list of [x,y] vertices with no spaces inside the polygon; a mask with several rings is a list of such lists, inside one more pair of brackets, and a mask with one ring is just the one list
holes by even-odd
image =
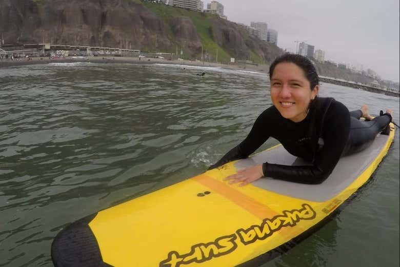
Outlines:
{"label": "smiling woman in black wetsuit lying on the yellow surfboard", "polygon": [[[318,184],[332,173],[339,158],[364,150],[376,135],[389,134],[392,111],[372,118],[368,107],[349,112],[333,98],[317,97],[319,78],[311,61],[286,53],[269,69],[273,106],[255,120],[238,146],[231,149],[210,169],[247,158],[269,138],[282,143],[292,155],[310,162],[309,166],[285,166],[264,162],[225,178],[244,186],[262,177],[291,182]],[[365,121],[359,120],[361,117]]]}

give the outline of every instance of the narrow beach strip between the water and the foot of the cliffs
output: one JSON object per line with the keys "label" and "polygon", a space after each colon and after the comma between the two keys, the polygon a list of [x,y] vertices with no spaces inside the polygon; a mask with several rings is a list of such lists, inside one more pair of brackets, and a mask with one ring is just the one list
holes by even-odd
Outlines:
{"label": "narrow beach strip between the water and the foot of the cliffs", "polygon": [[90,63],[131,63],[131,64],[170,64],[170,65],[187,65],[187,66],[197,66],[197,67],[219,67],[224,69],[233,69],[233,70],[248,70],[248,71],[256,71],[260,73],[268,74],[269,65],[250,65],[250,64],[221,64],[221,63],[212,63],[202,61],[191,61],[191,60],[168,60],[161,58],[142,58],[138,57],[85,57],[85,58],[57,58],[50,59],[48,57],[31,57],[30,60],[28,58],[21,58],[19,60],[14,59],[11,60],[3,60],[0,61],[0,69],[9,68],[9,67],[19,67],[19,66],[27,66],[27,65],[36,65],[36,64],[49,64],[49,63],[76,63],[76,62],[90,62]]}

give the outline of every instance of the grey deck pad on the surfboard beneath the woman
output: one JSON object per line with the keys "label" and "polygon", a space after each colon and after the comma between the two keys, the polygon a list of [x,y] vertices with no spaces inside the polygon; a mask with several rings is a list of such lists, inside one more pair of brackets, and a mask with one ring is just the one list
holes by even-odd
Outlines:
{"label": "grey deck pad on the surfboard beneath the woman", "polygon": [[[278,194],[301,198],[309,201],[323,202],[329,200],[347,188],[368,166],[385,146],[388,135],[378,134],[370,147],[356,154],[342,157],[332,174],[321,184],[302,184],[275,179],[258,179],[253,186]],[[292,156],[283,146],[261,152],[252,157],[241,159],[235,168],[241,170],[250,166],[268,163],[300,166],[310,165],[301,158]]]}

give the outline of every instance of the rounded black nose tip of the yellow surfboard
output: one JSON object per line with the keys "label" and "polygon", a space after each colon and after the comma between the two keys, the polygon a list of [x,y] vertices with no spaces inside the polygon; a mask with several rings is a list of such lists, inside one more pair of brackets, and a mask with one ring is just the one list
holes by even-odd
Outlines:
{"label": "rounded black nose tip of the yellow surfboard", "polygon": [[113,267],[103,261],[97,240],[89,227],[97,214],[69,224],[51,244],[55,267]]}

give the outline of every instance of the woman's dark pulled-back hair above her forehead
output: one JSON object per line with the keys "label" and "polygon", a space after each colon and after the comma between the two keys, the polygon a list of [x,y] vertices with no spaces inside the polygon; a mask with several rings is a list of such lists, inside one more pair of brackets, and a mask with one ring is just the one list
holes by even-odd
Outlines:
{"label": "woman's dark pulled-back hair above her forehead", "polygon": [[279,63],[288,62],[296,64],[299,68],[304,71],[307,80],[310,82],[310,89],[314,90],[315,86],[319,84],[318,74],[316,73],[314,65],[311,63],[310,59],[305,56],[285,53],[278,56],[271,66],[269,67],[269,79],[271,80],[272,74],[274,73],[276,65]]}

